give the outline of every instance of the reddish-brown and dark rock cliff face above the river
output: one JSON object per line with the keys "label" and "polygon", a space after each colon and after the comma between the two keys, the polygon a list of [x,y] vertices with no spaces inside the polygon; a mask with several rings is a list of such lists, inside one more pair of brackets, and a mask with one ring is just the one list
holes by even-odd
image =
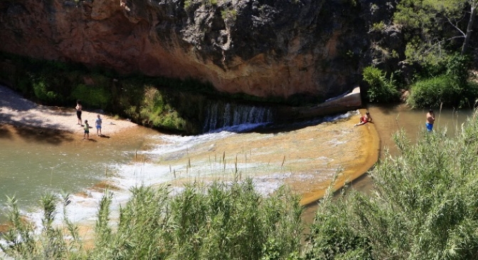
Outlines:
{"label": "reddish-brown and dark rock cliff face above the river", "polygon": [[[378,1],[380,2],[380,1]],[[197,78],[226,93],[323,99],[357,85],[365,0],[0,2],[0,51]]]}

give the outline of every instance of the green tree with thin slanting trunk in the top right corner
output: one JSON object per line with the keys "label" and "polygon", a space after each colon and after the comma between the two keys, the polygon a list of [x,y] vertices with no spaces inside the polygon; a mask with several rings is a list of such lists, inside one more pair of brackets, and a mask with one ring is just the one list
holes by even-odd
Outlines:
{"label": "green tree with thin slanting trunk in the top right corner", "polygon": [[408,41],[407,58],[430,61],[460,49],[466,54],[477,6],[478,0],[400,1],[393,21],[402,26]]}

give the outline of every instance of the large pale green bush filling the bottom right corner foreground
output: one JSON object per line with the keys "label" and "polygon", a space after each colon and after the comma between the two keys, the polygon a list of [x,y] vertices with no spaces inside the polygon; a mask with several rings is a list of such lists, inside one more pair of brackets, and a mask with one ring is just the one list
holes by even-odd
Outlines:
{"label": "large pale green bush filling the bottom right corner foreground", "polygon": [[330,251],[329,237],[339,236],[344,254],[370,252],[371,259],[476,259],[476,112],[455,137],[435,129],[420,132],[416,144],[403,131],[393,139],[400,155],[386,153],[371,170],[375,192],[319,208],[312,241],[331,242],[312,244],[312,252]]}

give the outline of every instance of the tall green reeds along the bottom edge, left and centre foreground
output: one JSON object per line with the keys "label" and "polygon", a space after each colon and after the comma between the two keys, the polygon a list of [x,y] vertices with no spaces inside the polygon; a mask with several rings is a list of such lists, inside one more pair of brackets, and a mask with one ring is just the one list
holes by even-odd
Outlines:
{"label": "tall green reeds along the bottom edge, left and centre foreground", "polygon": [[43,199],[48,203],[41,234],[21,221],[12,201],[12,227],[2,235],[2,249],[15,259],[286,259],[299,252],[302,207],[285,188],[262,197],[247,180],[189,184],[176,196],[167,186],[134,187],[131,193],[116,224],[110,217],[112,195],[102,198],[92,249],[68,246],[80,245],[78,236],[59,235],[52,224],[53,197]]}

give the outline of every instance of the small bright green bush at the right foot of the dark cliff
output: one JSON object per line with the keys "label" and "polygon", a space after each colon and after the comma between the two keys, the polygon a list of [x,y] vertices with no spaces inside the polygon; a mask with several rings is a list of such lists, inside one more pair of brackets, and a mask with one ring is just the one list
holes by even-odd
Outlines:
{"label": "small bright green bush at the right foot of the dark cliff", "polygon": [[367,95],[371,102],[392,102],[398,100],[398,90],[396,89],[393,74],[387,80],[385,73],[374,67],[363,69],[363,80],[368,83]]}

